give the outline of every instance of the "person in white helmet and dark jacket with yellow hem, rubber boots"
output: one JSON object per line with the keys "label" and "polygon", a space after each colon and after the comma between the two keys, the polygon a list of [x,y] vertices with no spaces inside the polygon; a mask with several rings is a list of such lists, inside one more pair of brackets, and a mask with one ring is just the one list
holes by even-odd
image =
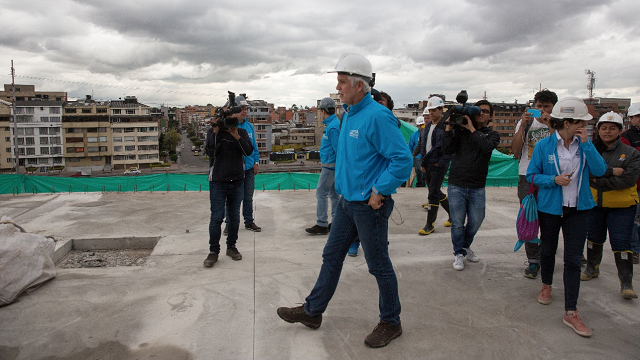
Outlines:
{"label": "person in white helmet and dark jacket with yellow hem, rubber boots", "polygon": [[600,275],[602,249],[608,232],[622,297],[637,298],[631,284],[633,252],[630,240],[638,203],[636,181],[640,174],[640,152],[620,141],[622,116],[610,111],[600,117],[596,128],[593,143],[608,168],[603,176],[593,177],[589,182],[597,206],[590,214],[587,267],[580,280],[587,281]]}

